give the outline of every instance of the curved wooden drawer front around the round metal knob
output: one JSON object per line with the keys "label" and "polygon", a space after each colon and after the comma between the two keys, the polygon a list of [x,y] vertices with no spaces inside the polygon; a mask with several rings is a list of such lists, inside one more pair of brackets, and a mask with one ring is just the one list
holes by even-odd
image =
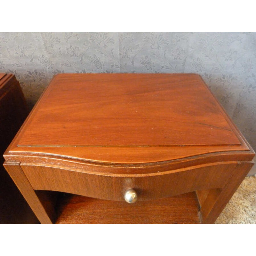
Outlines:
{"label": "curved wooden drawer front around the round metal knob", "polygon": [[21,164],[21,167],[36,190],[124,201],[126,191],[134,189],[137,200],[144,201],[196,190],[222,188],[236,165],[236,162],[215,163],[170,172],[116,176],[26,164]]}

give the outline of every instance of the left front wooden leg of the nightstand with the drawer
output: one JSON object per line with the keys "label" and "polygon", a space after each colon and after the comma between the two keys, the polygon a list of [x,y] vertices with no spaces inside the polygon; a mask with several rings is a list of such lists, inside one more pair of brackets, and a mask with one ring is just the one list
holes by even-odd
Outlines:
{"label": "left front wooden leg of the nightstand with the drawer", "polygon": [[4,162],[4,167],[6,171],[11,176],[12,180],[19,188],[21,194],[27,200],[29,206],[36,214],[36,217],[42,224],[52,224],[55,221],[55,214],[54,210],[51,209],[51,213],[46,211],[44,208],[44,204],[40,201],[38,195],[36,194],[35,190],[32,188],[31,184],[29,183],[26,175],[22,171],[20,167],[20,163],[17,162]]}

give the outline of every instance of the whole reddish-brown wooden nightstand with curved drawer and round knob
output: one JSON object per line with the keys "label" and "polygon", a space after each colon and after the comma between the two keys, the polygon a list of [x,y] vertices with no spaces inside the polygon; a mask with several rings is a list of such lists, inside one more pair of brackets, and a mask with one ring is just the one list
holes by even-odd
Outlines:
{"label": "whole reddish-brown wooden nightstand with curved drawer and round knob", "polygon": [[41,223],[214,223],[253,156],[199,75],[60,74],[4,166]]}

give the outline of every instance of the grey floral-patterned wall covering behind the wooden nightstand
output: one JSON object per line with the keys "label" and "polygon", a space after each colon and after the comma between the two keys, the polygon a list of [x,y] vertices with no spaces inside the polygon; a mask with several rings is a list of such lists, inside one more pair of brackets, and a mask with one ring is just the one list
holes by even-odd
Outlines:
{"label": "grey floral-patterned wall covering behind the wooden nightstand", "polygon": [[32,107],[57,73],[198,73],[256,149],[256,33],[2,33]]}

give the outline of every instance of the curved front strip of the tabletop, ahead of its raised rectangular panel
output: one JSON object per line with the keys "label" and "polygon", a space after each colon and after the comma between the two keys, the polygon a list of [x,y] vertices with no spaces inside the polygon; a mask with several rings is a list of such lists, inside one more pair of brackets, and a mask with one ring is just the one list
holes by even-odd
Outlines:
{"label": "curved front strip of the tabletop, ahead of its raised rectangular panel", "polygon": [[[10,151],[15,155],[23,152],[27,154],[48,155],[51,158],[54,156],[63,156],[65,159],[81,159],[100,163],[120,163],[120,164],[140,164],[170,161],[175,159],[186,158],[190,156],[200,156],[207,153],[227,152],[245,150],[249,148],[245,143],[239,146],[152,146],[152,147],[15,147]],[[246,152],[245,152],[246,153]],[[23,153],[24,154],[24,153]],[[225,155],[227,153],[223,153]],[[241,153],[239,155],[242,155]],[[250,155],[250,152],[248,152]],[[245,156],[245,154],[244,154]],[[241,156],[241,160],[243,159]],[[248,157],[248,156],[247,156]],[[253,154],[251,154],[251,159]]]}

